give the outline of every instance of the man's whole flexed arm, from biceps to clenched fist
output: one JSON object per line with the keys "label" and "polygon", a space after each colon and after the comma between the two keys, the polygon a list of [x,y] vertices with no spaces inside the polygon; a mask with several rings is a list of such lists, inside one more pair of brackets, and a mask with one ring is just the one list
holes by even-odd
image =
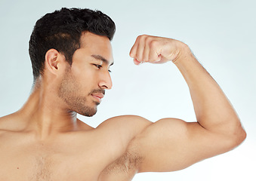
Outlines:
{"label": "man's whole flexed arm, from biceps to clenched fist", "polygon": [[129,146],[140,156],[139,172],[180,170],[235,148],[246,133],[227,97],[187,44],[140,35],[131,48],[134,63],[172,61],[190,88],[197,122],[165,118],[151,124]]}

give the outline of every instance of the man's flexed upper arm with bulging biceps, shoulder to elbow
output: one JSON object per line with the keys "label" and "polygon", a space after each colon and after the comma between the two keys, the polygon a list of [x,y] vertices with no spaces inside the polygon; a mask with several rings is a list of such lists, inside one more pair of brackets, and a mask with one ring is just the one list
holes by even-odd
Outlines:
{"label": "man's flexed upper arm with bulging biceps, shoulder to elbow", "polygon": [[230,140],[197,122],[165,118],[138,134],[128,149],[136,150],[142,158],[139,172],[174,171],[229,151]]}

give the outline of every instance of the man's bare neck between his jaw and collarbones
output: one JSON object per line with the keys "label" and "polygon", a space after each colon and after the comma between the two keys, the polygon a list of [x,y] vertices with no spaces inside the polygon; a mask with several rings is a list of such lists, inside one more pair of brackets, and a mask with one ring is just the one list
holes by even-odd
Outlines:
{"label": "man's bare neck between his jaw and collarbones", "polygon": [[34,88],[29,99],[19,110],[24,130],[35,131],[39,140],[51,135],[78,129],[76,112],[71,112],[65,103],[51,90]]}

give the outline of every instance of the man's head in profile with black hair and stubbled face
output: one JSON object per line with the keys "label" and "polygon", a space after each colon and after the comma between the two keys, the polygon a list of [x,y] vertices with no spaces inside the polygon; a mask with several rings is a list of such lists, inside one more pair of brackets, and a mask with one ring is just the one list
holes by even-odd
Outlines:
{"label": "man's head in profile with black hair and stubbled face", "polygon": [[29,41],[34,81],[43,78],[56,106],[86,116],[97,112],[112,87],[114,32],[113,20],[88,9],[62,8],[36,22]]}

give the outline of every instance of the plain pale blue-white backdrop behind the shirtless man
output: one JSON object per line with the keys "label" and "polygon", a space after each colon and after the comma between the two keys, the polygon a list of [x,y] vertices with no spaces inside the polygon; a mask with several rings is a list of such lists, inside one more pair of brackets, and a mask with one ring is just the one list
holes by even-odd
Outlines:
{"label": "plain pale blue-white backdrop behind the shirtless man", "polygon": [[248,137],[237,149],[173,173],[140,173],[141,180],[256,180],[256,3],[231,0],[0,0],[0,116],[20,109],[32,87],[28,41],[35,21],[62,7],[98,9],[116,22],[113,39],[113,90],[106,91],[93,118],[97,127],[115,115],[151,121],[196,121],[187,84],[172,64],[134,66],[128,56],[137,35],[176,38],[189,44],[221,85]]}

